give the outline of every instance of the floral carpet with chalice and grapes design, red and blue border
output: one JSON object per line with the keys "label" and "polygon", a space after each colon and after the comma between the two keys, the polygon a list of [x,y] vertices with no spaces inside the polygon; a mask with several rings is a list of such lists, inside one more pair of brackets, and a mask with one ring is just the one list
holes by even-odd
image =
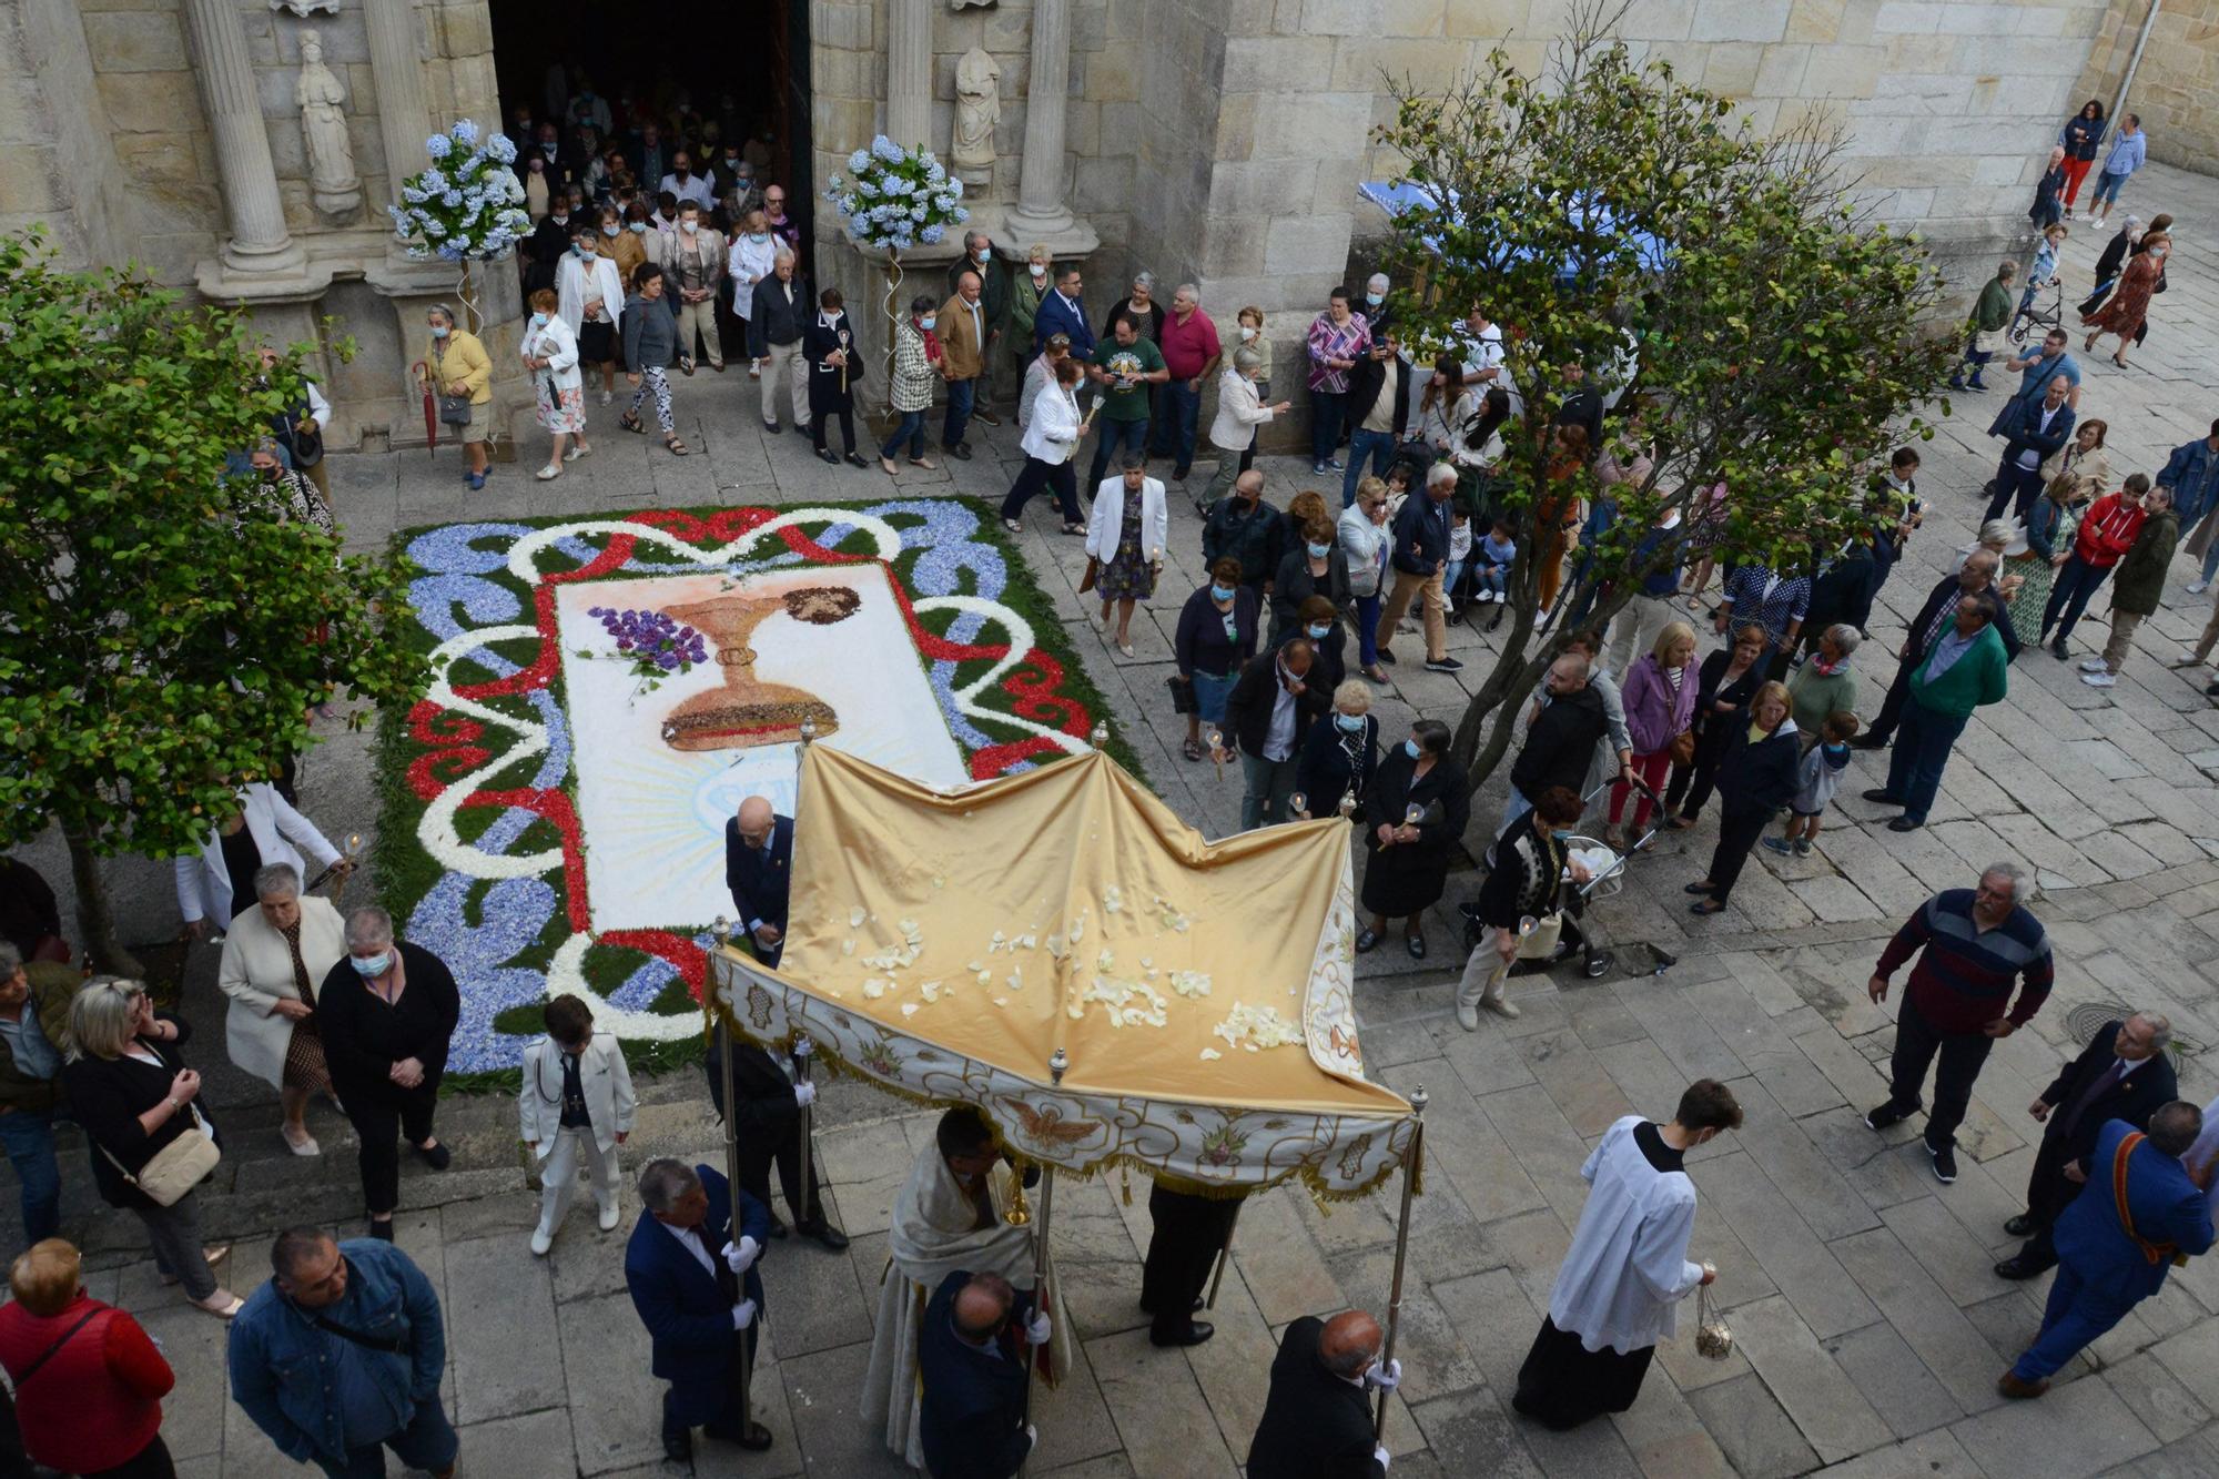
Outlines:
{"label": "floral carpet with chalice and grapes design, red and blue border", "polygon": [[[723,819],[757,793],[790,813],[799,722],[950,784],[1076,753],[1105,713],[1016,553],[959,500],[399,544],[430,688],[382,731],[377,864],[402,933],[462,984],[455,1075],[515,1068],[564,990],[635,1057],[699,1042]],[[639,608],[697,620],[706,662],[619,653],[599,613]]]}

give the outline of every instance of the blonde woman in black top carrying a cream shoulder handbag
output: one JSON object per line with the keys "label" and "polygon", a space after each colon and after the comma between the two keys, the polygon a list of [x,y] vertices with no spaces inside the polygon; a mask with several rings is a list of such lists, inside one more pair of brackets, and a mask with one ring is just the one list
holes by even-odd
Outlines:
{"label": "blonde woman in black top carrying a cream shoulder handbag", "polygon": [[62,1086],[84,1137],[93,1141],[93,1181],[109,1206],[146,1224],[164,1284],[222,1319],[244,1304],[215,1281],[211,1264],[231,1248],[200,1246],[193,1190],[215,1170],[215,1121],[200,1108],[200,1075],[180,1048],[193,1028],[155,1013],[140,982],[89,982],[69,1004],[69,1062]]}

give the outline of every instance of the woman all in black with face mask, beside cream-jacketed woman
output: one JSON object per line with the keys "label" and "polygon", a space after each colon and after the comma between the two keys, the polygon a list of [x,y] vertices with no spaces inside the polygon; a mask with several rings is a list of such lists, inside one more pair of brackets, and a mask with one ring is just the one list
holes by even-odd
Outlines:
{"label": "woman all in black with face mask, beside cream-jacketed woman", "polygon": [[362,1141],[362,1199],[371,1237],[393,1241],[402,1199],[397,1135],[433,1170],[448,1148],[433,1133],[446,1046],[462,1017],[455,975],[424,946],[393,939],[393,915],[357,908],[346,917],[346,959],[324,973],[315,1010],[331,1086]]}

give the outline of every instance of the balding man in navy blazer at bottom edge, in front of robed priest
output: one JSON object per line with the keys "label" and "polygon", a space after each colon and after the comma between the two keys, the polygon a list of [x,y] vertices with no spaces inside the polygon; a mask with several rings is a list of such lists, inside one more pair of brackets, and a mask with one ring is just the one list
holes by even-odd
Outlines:
{"label": "balding man in navy blazer at bottom edge, in front of robed priest", "polygon": [[[916,1441],[932,1479],[1010,1479],[1032,1452],[1025,1430],[1025,1361],[1032,1348],[1016,1339],[1007,1319],[987,1346],[974,1346],[956,1330],[956,1295],[970,1281],[972,1275],[961,1268],[941,1279],[919,1321],[923,1397]],[[1019,1315],[1025,1295],[1016,1299],[1012,1315]]]}

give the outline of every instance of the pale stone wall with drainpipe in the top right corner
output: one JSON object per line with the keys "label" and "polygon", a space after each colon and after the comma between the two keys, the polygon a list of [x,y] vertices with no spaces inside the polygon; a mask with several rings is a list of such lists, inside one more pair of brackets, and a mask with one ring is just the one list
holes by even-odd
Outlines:
{"label": "pale stone wall with drainpipe in the top right corner", "polygon": [[[2073,87],[2075,100],[2099,98],[2110,107],[2148,13],[2150,0],[2112,0]],[[2219,0],[2166,0],[2150,27],[2126,111],[2141,115],[2150,158],[2219,173]]]}

